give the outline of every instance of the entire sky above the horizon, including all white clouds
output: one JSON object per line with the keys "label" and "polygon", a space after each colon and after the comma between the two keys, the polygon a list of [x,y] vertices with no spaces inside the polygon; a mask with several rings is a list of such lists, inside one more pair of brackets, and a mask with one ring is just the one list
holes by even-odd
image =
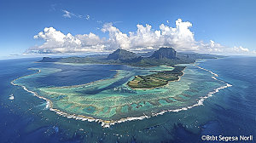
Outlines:
{"label": "entire sky above the horizon, including all white clouds", "polygon": [[254,0],[0,0],[0,57],[160,47],[256,54]]}

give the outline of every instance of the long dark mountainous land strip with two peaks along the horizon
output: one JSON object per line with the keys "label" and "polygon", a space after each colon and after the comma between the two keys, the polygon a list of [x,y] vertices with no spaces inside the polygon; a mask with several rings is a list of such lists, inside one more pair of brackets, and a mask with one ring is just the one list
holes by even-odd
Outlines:
{"label": "long dark mountainous land strip with two peaks along the horizon", "polygon": [[[152,55],[150,55],[152,54]],[[117,49],[112,54],[94,54],[84,57],[49,58],[39,62],[117,64],[129,66],[160,66],[194,63],[196,59],[216,59],[224,56],[214,54],[177,53],[172,48],[160,48],[154,53],[135,54],[125,49]]]}

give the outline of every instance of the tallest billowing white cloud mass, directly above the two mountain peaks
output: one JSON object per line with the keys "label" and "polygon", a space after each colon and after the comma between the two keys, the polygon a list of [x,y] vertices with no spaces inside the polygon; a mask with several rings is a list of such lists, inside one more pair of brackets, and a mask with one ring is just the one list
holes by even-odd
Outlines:
{"label": "tallest billowing white cloud mass, directly above the two mountain peaks", "polygon": [[176,21],[176,27],[160,25],[160,30],[152,30],[152,26],[137,25],[137,31],[130,31],[129,35],[119,31],[112,23],[104,24],[102,31],[109,32],[108,43],[111,48],[130,50],[159,49],[173,47],[177,50],[197,50],[194,34],[189,30],[190,22]]}

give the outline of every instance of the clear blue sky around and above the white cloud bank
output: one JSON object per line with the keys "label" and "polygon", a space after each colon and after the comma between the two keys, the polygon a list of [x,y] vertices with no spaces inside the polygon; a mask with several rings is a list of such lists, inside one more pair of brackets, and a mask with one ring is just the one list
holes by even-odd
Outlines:
{"label": "clear blue sky around and above the white cloud bank", "polygon": [[[203,45],[212,40],[215,47],[218,43],[253,51],[256,50],[255,6],[253,0],[1,0],[0,56],[22,54],[26,49],[42,45],[46,39],[33,37],[45,27],[54,27],[65,35],[92,32],[108,39],[111,26],[129,35],[129,31],[137,31],[138,24],[148,24],[156,31],[161,24],[176,27],[178,19],[193,25],[189,30],[195,41]],[[65,10],[70,12],[70,17],[65,17]],[[102,32],[106,23],[112,25]]]}

